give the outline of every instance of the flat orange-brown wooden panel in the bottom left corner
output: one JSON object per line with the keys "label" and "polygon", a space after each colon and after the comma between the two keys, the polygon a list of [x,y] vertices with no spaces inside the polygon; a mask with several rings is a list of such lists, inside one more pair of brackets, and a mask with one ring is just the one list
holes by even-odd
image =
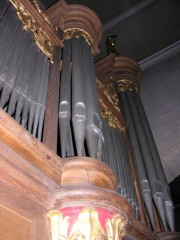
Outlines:
{"label": "flat orange-brown wooden panel in the bottom left corner", "polygon": [[32,222],[0,205],[0,239],[31,239]]}

